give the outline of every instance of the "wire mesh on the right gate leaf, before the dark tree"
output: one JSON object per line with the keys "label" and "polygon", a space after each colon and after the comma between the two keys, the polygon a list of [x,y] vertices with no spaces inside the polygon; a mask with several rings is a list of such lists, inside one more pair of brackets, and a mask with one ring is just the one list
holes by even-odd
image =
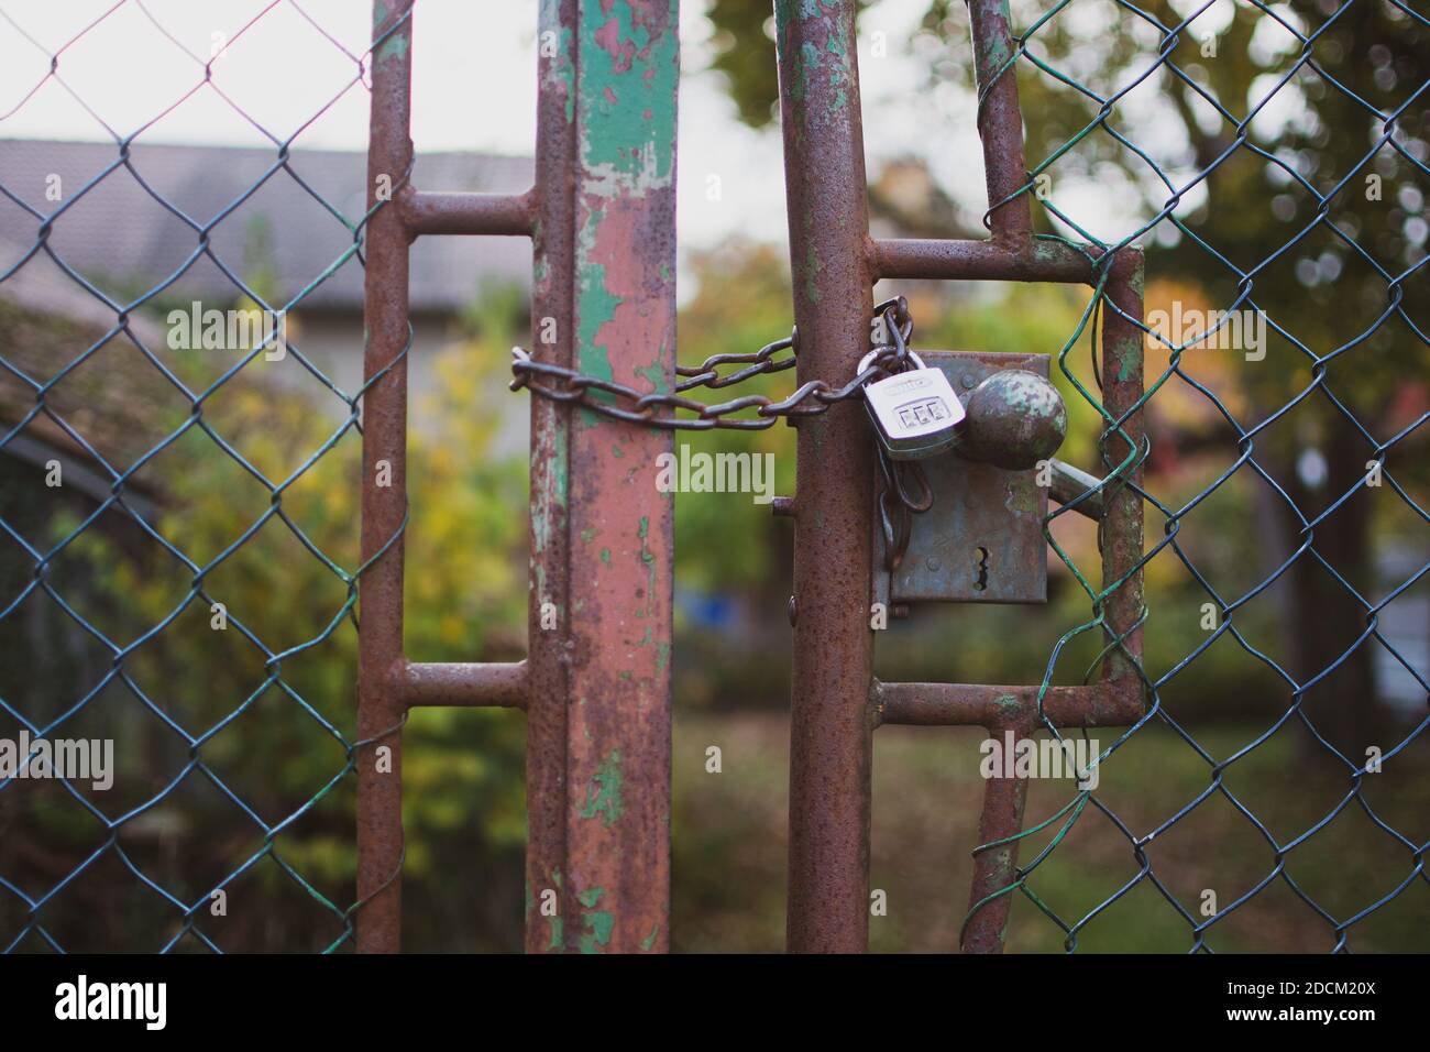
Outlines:
{"label": "wire mesh on the right gate leaf, before the dark tree", "polygon": [[[1031,200],[1041,236],[1101,250],[1088,253],[1097,286],[1057,362],[1074,401],[1103,421],[1097,467],[1107,488],[1131,485],[1147,508],[1150,538],[1140,570],[1150,581],[1148,610],[1140,624],[1148,654],[1140,674],[1148,711],[1130,729],[1098,733],[1101,777],[1113,780],[1120,760],[1135,763],[1130,754],[1138,743],[1160,736],[1193,750],[1205,779],[1191,799],[1155,816],[1135,802],[1128,807],[1127,796],[1114,804],[1107,784],[1064,794],[1060,804],[1042,800],[1044,810],[1030,809],[1024,832],[978,847],[1022,842],[1022,859],[1017,877],[975,903],[970,917],[992,899],[1018,893],[1037,910],[1024,913],[1022,925],[1045,917],[1074,950],[1128,896],[1144,896],[1144,903],[1155,900],[1147,906],[1151,913],[1171,910],[1171,926],[1198,952],[1236,945],[1228,933],[1237,917],[1258,899],[1290,895],[1304,906],[1301,926],[1314,933],[1293,946],[1353,949],[1367,919],[1396,905],[1407,937],[1416,937],[1420,919],[1424,949],[1430,830],[1414,812],[1401,809],[1393,820],[1386,814],[1397,796],[1419,799],[1413,794],[1423,792],[1430,726],[1426,620],[1411,618],[1421,638],[1387,628],[1387,611],[1397,603],[1411,610],[1416,585],[1430,571],[1421,469],[1430,414],[1414,394],[1424,391],[1430,361],[1421,313],[1430,21],[1400,0],[1294,7],[1064,0],[1015,3],[1012,14],[1015,53],[998,76],[1018,79],[1030,170],[1027,183],[990,213]],[[1074,16],[1081,23],[1070,23]],[[1240,79],[1231,74],[1234,64]],[[1230,83],[1250,87],[1243,97],[1226,90]],[[1067,192],[1078,183],[1085,190],[1094,177],[1104,183],[1097,195]],[[1118,195],[1121,218],[1113,202]],[[1134,414],[1144,414],[1153,439],[1127,454],[1123,428],[1134,414],[1113,418],[1101,404],[1097,322],[1100,312],[1118,311],[1105,295],[1107,275],[1115,255],[1134,243],[1148,248],[1150,278],[1193,275],[1205,301],[1195,318],[1188,311],[1195,323],[1180,332],[1173,322],[1180,313],[1130,319],[1147,333],[1145,395]],[[1181,311],[1178,295],[1195,293],[1174,289],[1174,311]],[[1157,306],[1167,306],[1167,298],[1150,295],[1148,308]],[[1267,333],[1260,349],[1247,346],[1246,329],[1230,345],[1218,338],[1228,326],[1258,323],[1257,316]],[[1174,399],[1207,418],[1194,438],[1197,454],[1214,465],[1190,491],[1165,461],[1168,445],[1177,452],[1191,441],[1167,415]],[[1338,459],[1320,449],[1338,449]],[[1160,474],[1133,481],[1148,468]],[[1246,524],[1234,525],[1218,504],[1236,487],[1256,494],[1270,512],[1243,538],[1228,531]],[[1104,641],[1105,604],[1123,580],[1098,584],[1087,557],[1064,547],[1068,511],[1052,511],[1044,532],[1085,593],[1091,617],[1058,640],[1042,694],[1067,681],[1067,656],[1080,643],[1128,653],[1118,638]],[[1358,525],[1347,541],[1341,517],[1351,514]],[[1371,532],[1380,541],[1393,532],[1400,558],[1377,558],[1381,548]],[[1240,557],[1231,573],[1227,548]],[[1158,611],[1158,598],[1165,604],[1174,593],[1171,577],[1185,588]],[[1307,610],[1308,603],[1317,608]],[[1344,631],[1321,631],[1331,623]],[[1250,686],[1236,704],[1266,716],[1241,743],[1204,743],[1183,716],[1187,698],[1177,697],[1214,647],[1237,648]],[[1379,673],[1369,683],[1367,663]],[[1367,691],[1379,681],[1381,694],[1389,693],[1387,680],[1403,696],[1397,719],[1360,719],[1383,707]],[[1060,739],[1088,734],[1060,729],[1045,714],[1041,726]],[[1294,747],[1277,753],[1287,764],[1287,794],[1327,797],[1310,820],[1266,817],[1264,803],[1233,784],[1247,757],[1288,739]],[[1248,842],[1231,846],[1204,836],[1187,866],[1198,872],[1190,876],[1157,862],[1165,839],[1218,807],[1231,809]],[[1326,830],[1337,820],[1361,823],[1366,839],[1357,843],[1377,843],[1384,854],[1366,886],[1350,879],[1350,860],[1331,862],[1343,867],[1343,879],[1336,902],[1327,903],[1326,892],[1297,870],[1317,846],[1324,850]],[[1125,882],[1090,890],[1081,902],[1065,895],[1050,872],[1061,857],[1057,849],[1072,837],[1087,850],[1123,854]],[[1346,850],[1337,843],[1333,852]],[[1254,879],[1227,876],[1253,854],[1260,865]],[[1067,879],[1068,869],[1058,875]],[[1018,927],[1015,922],[1014,935]],[[1288,948],[1287,939],[1264,935],[1263,949]]]}

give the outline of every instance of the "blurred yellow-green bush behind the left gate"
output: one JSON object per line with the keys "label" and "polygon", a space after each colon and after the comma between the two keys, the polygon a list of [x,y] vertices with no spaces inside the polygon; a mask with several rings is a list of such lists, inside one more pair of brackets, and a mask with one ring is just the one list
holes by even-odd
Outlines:
{"label": "blurred yellow-green bush behind the left gate", "polygon": [[[489,458],[499,417],[473,412],[479,394],[500,385],[508,335],[488,326],[482,339],[446,352],[438,394],[415,406],[420,422],[409,435],[405,604],[413,660],[513,660],[521,653],[525,464]],[[263,366],[255,359],[204,402],[203,424],[229,452],[192,427],[139,475],[157,485],[154,534],[197,568],[160,544],[122,547],[99,528],[79,534],[72,558],[89,565],[97,593],[84,613],[116,644],[130,646],[157,630],[124,658],[133,693],[117,691],[106,703],[137,713],[142,691],[164,719],[202,740],[194,756],[270,826],[316,797],[277,837],[277,854],[345,909],[355,899],[352,774],[343,773],[345,743],[356,740],[362,611],[350,583],[359,565],[360,437],[346,406],[330,412],[309,396],[246,379]],[[184,419],[176,412],[167,425]],[[56,517],[53,540],[79,521],[76,514]],[[220,614],[223,630],[214,627]],[[190,754],[177,734],[153,731],[116,741],[127,767],[149,773],[144,797]],[[519,940],[523,740],[523,723],[511,713],[435,710],[409,721],[405,880],[409,930],[419,945],[452,946],[449,915],[466,900],[453,873],[469,872],[473,857],[500,863],[489,899],[502,909],[482,909],[492,923],[475,936],[493,942],[468,948]],[[189,773],[144,816],[172,822],[187,837],[202,830],[203,852],[186,839],[184,850],[150,870],[160,885],[187,896],[204,892],[262,846],[252,820],[204,783],[202,771]],[[252,900],[240,905],[240,877],[230,889],[235,926],[200,925],[220,945],[296,949],[310,939],[307,948],[316,949],[340,933],[340,925],[270,860],[253,879],[266,900],[296,895],[285,909],[287,930],[256,923]],[[240,917],[250,923],[237,923]],[[136,932],[133,945],[154,937],[153,930]]]}

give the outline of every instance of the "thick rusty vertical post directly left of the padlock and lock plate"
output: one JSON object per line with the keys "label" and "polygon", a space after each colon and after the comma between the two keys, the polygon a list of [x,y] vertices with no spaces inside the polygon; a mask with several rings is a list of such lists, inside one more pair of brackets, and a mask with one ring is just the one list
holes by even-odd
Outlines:
{"label": "thick rusty vertical post directly left of the padlock and lock plate", "polygon": [[[798,381],[848,381],[869,346],[854,3],[776,0]],[[798,422],[789,719],[791,952],[868,943],[874,461],[862,408]]]}

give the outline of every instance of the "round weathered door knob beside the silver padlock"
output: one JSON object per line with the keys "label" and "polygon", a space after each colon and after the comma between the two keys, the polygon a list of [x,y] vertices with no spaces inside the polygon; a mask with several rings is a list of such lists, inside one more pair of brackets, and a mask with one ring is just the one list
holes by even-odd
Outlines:
{"label": "round weathered door knob beside the silver padlock", "polygon": [[1025,471],[1050,458],[1068,432],[1062,395],[1027,369],[1000,369],[974,388],[964,408],[968,419],[958,451],[1010,471]]}

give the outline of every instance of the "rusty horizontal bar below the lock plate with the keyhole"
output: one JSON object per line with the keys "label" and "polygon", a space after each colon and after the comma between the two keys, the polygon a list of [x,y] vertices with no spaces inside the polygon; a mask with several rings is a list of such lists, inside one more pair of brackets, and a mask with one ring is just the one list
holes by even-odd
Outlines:
{"label": "rusty horizontal bar below the lock plate with the keyhole", "polygon": [[[877,727],[992,727],[1038,713],[1038,687],[875,680],[869,697]],[[1135,677],[1048,687],[1042,697],[1042,713],[1058,727],[1128,726],[1144,711]]]}

